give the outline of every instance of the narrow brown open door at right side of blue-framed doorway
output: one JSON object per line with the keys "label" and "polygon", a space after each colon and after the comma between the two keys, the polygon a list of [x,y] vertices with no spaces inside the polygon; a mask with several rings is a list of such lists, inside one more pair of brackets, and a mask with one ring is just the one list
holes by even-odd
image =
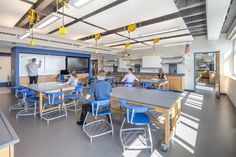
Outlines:
{"label": "narrow brown open door at right side of blue-framed doorway", "polygon": [[215,94],[220,98],[220,52],[216,53]]}

